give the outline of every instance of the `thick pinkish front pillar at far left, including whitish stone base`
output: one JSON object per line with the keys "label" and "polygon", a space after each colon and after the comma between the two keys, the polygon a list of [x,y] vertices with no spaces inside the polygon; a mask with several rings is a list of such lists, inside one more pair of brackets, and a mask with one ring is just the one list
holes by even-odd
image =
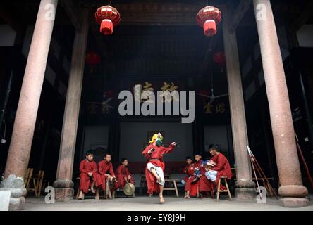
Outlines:
{"label": "thick pinkish front pillar at far left, including whitish stone base", "polygon": [[18,109],[8,150],[1,188],[11,191],[10,209],[19,210],[25,202],[24,176],[30,159],[32,137],[38,112],[44,73],[58,0],[40,1],[32,44],[28,53]]}

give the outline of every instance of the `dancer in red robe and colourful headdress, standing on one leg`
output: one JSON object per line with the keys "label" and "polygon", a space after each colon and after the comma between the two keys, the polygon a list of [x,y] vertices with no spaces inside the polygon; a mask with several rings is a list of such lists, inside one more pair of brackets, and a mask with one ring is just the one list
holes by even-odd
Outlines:
{"label": "dancer in red robe and colourful headdress, standing on one leg", "polygon": [[[148,193],[152,196],[153,192],[159,192],[160,203],[164,203],[163,188],[164,188],[164,168],[163,155],[171,153],[175,148],[176,143],[170,143],[168,148],[161,146],[163,137],[161,133],[154,134],[152,140],[149,141],[149,146],[143,150],[142,155],[147,158],[147,167],[145,175],[147,180]],[[156,185],[158,183],[159,185]]]}

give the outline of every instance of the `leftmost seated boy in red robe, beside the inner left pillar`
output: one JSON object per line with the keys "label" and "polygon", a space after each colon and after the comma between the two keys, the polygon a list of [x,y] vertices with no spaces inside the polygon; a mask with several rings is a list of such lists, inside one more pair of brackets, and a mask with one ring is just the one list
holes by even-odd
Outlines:
{"label": "leftmost seated boy in red robe, beside the inner left pillar", "polygon": [[80,187],[78,200],[84,198],[84,193],[88,193],[91,179],[97,180],[97,163],[94,162],[94,155],[90,152],[86,153],[86,158],[80,162]]}

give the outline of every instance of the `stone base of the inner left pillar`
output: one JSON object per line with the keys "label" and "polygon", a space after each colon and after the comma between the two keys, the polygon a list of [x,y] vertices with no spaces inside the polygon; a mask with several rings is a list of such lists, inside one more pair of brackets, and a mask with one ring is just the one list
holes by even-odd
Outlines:
{"label": "stone base of the inner left pillar", "polygon": [[74,183],[68,180],[54,181],[54,191],[56,194],[56,201],[68,202],[74,197]]}

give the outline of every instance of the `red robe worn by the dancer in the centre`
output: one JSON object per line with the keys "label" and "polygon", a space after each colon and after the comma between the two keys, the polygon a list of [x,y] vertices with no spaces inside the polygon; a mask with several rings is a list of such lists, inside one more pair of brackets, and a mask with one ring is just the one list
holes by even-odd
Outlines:
{"label": "red robe worn by the dancer in the centre", "polygon": [[[148,154],[148,151],[154,148],[154,151],[151,154]],[[147,163],[151,162],[156,167],[161,167],[161,169],[165,169],[165,164],[163,162],[163,155],[167,153],[171,153],[171,151],[175,148],[175,146],[171,145],[168,146],[168,148],[165,148],[163,146],[154,146],[153,144],[150,144],[143,150],[142,155],[145,155],[147,158]],[[152,160],[153,159],[153,160]],[[152,160],[152,161],[150,161]],[[147,180],[147,187],[148,187],[148,193],[152,194],[153,192],[159,192],[159,185],[156,185],[156,178],[155,176],[149,172],[149,170],[145,169],[145,175]]]}

